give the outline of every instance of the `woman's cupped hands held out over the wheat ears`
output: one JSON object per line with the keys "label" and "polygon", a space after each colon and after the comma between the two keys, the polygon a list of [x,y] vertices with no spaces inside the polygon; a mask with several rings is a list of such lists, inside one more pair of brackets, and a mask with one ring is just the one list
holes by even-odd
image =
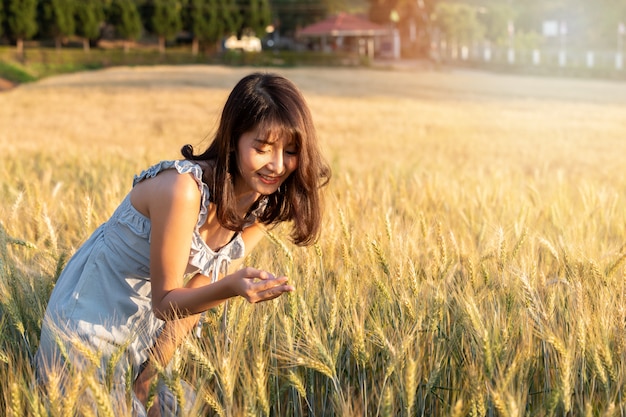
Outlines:
{"label": "woman's cupped hands held out over the wheat ears", "polygon": [[255,268],[244,268],[227,275],[223,280],[228,281],[233,292],[245,298],[249,303],[272,300],[285,292],[294,291],[288,285],[287,277],[274,277],[267,271]]}

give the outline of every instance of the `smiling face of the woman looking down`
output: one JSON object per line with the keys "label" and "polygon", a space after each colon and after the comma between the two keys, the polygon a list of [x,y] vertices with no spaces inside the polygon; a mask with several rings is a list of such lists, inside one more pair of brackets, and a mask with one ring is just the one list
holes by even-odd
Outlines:
{"label": "smiling face of the woman looking down", "polygon": [[298,167],[298,149],[293,140],[268,140],[252,130],[241,135],[237,148],[240,175],[235,180],[236,194],[272,194]]}

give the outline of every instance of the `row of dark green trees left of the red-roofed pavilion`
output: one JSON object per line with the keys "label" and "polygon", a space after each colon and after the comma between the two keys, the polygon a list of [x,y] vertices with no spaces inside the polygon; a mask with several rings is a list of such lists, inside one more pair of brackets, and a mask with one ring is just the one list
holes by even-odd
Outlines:
{"label": "row of dark green trees left of the red-roofed pavilion", "polygon": [[299,1],[308,4],[304,8],[292,0],[274,3],[279,13],[272,13],[270,0],[0,0],[0,39],[14,43],[18,53],[35,37],[54,39],[57,47],[77,37],[89,49],[108,29],[125,48],[148,33],[158,37],[164,51],[166,41],[185,31],[197,53],[227,35],[261,37],[280,24],[280,13],[304,23],[325,14],[322,0]]}

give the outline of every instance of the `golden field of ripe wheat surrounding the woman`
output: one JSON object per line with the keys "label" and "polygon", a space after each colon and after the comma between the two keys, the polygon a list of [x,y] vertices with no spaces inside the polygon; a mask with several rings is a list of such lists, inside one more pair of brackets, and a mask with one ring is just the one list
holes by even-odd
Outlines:
{"label": "golden field of ripe wheat surrounding the woman", "polygon": [[[205,146],[253,70],[117,68],[0,94],[1,415],[118,415],[88,374],[37,385],[48,296],[133,175]],[[299,248],[277,228],[247,256],[296,291],[209,314],[163,376],[196,389],[188,415],[626,414],[626,84],[275,71],[333,168],[323,233]]]}

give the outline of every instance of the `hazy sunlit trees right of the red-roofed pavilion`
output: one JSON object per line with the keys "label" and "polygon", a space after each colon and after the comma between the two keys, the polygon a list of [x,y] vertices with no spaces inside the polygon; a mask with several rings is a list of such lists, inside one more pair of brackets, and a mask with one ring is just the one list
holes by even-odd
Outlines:
{"label": "hazy sunlit trees right of the red-roofed pavilion", "polygon": [[[370,19],[394,26],[403,39],[414,39],[418,53],[441,39],[468,46],[615,49],[626,31],[625,0],[368,1]],[[556,28],[551,37],[544,36],[546,22]]]}

